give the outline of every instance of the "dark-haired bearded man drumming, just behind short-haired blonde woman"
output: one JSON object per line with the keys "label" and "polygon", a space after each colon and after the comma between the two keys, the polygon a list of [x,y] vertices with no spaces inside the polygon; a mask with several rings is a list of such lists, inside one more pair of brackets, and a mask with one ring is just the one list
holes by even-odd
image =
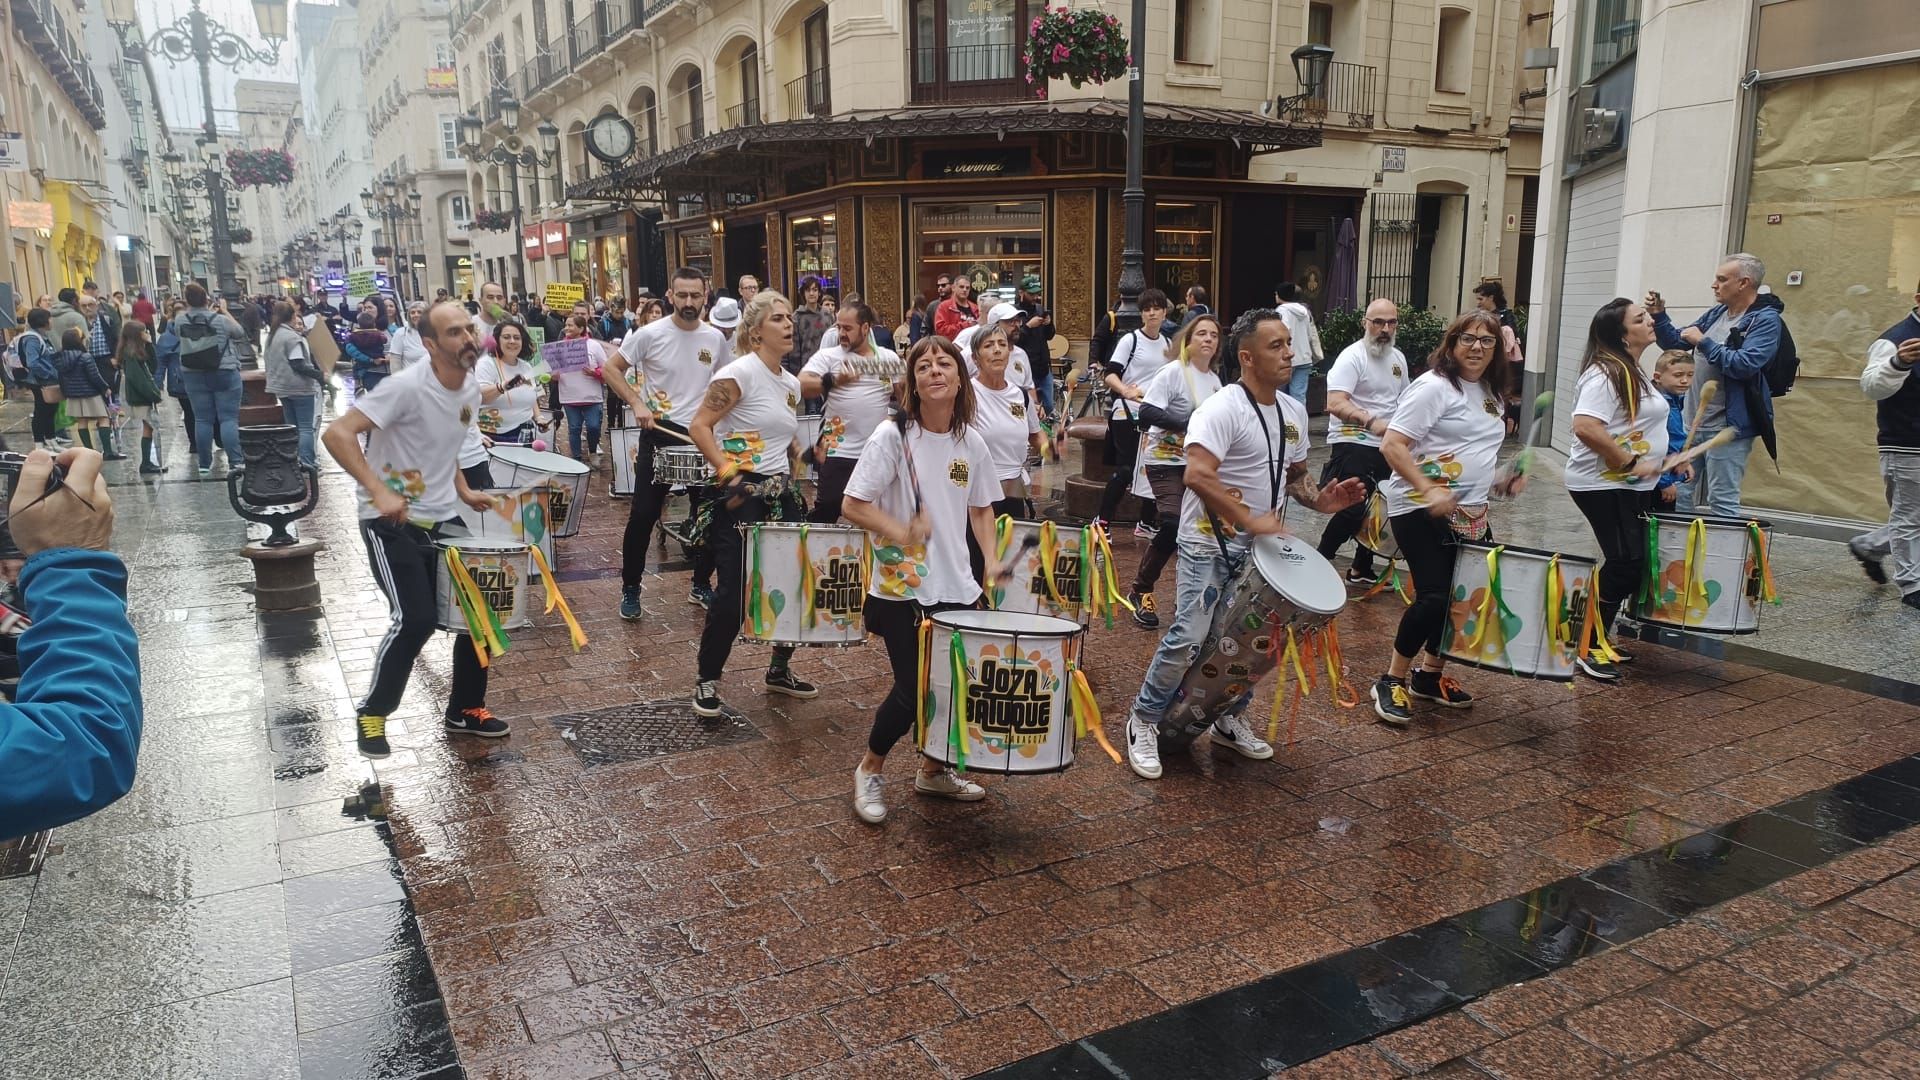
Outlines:
{"label": "dark-haired bearded man drumming, just behind short-haired blonde woman", "polygon": [[[672,319],[655,319],[634,331],[607,361],[607,388],[634,411],[634,423],[647,429],[634,461],[634,507],[620,546],[620,617],[630,623],[639,619],[647,542],[653,540],[668,492],[668,484],[653,479],[653,452],[662,446],[691,446],[687,427],[716,371],[714,361],[724,363],[730,356],[726,336],[701,321],[701,311],[707,309],[707,275],[689,267],[676,269],[668,300],[674,304]],[[628,367],[639,369],[639,388],[628,386]],[[710,601],[699,588],[687,600]]]}

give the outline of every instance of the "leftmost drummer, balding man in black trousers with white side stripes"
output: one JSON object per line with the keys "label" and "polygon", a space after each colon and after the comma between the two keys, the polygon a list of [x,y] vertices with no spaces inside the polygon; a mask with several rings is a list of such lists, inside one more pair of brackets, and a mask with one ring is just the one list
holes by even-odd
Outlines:
{"label": "leftmost drummer, balding man in black trousers with white side stripes", "polygon": [[[359,751],[367,757],[392,753],[386,717],[399,707],[413,661],[440,621],[434,540],[467,534],[461,503],[492,505],[486,492],[467,486],[459,469],[461,442],[480,407],[480,386],[472,379],[480,340],[472,317],[442,300],[426,309],[419,329],[428,363],[382,379],[321,436],[334,461],[367,492],[361,536],[372,577],[394,609],[394,623],[374,653],[372,686],[359,705]],[[486,707],[486,667],[467,634],[453,638],[445,728],[486,738],[509,730],[507,721]]]}

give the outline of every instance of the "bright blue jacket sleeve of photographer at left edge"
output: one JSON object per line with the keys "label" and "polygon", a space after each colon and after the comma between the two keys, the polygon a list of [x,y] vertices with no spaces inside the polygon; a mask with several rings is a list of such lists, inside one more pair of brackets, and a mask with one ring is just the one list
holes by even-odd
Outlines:
{"label": "bright blue jacket sleeve of photographer at left edge", "polygon": [[19,640],[19,692],[0,703],[0,836],[21,836],[111,803],[140,755],[140,650],[127,621],[127,567],[60,548],[27,559],[33,626]]}

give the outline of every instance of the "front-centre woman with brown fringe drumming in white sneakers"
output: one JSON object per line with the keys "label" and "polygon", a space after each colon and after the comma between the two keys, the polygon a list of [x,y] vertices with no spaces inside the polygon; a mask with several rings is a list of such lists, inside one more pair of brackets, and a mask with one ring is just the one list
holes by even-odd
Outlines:
{"label": "front-centre woman with brown fringe drumming in white sneakers", "polygon": [[[1000,356],[1004,367],[1006,354]],[[852,809],[860,821],[887,819],[881,769],[893,744],[914,726],[920,621],[979,603],[981,586],[968,575],[968,536],[981,552],[993,552],[998,498],[993,452],[975,423],[975,388],[960,350],[941,336],[922,338],[906,356],[904,409],[874,430],[847,480],[841,509],[847,521],[874,534],[866,628],[887,644],[893,667],[893,690],[874,713],[866,757],[852,773]],[[998,578],[991,555],[985,569],[989,582]],[[987,798],[985,788],[931,759],[922,759],[914,790],[960,801]]]}

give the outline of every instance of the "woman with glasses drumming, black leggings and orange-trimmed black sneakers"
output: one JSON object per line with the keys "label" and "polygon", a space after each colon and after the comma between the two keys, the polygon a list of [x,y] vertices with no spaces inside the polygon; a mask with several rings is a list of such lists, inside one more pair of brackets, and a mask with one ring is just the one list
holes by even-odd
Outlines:
{"label": "woman with glasses drumming, black leggings and orange-trimmed black sneakers", "polygon": [[[1450,709],[1473,707],[1473,694],[1440,673],[1440,632],[1453,592],[1455,540],[1492,534],[1486,503],[1507,434],[1507,369],[1498,359],[1500,321],[1490,311],[1453,319],[1427,373],[1402,394],[1380,444],[1394,469],[1380,490],[1413,575],[1413,603],[1400,617],[1392,661],[1373,684],[1373,711],[1388,724],[1413,721],[1409,694]],[[1524,486],[1526,479],[1515,477],[1509,494]],[[1427,659],[1413,671],[1421,648]]]}

